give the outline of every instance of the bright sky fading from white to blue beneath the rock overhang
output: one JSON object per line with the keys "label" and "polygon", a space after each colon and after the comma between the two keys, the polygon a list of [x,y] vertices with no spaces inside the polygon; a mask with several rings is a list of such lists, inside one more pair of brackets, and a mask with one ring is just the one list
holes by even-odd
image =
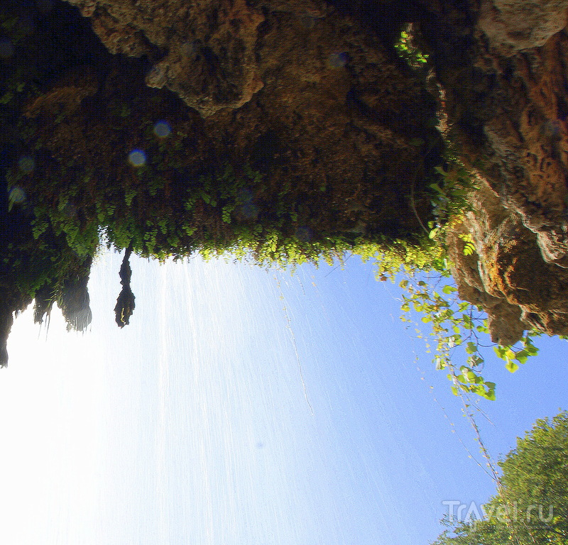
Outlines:
{"label": "bright sky fading from white to blue beneath the rock overhang", "polygon": [[[119,330],[120,260],[94,268],[87,334],[16,321],[3,543],[427,544],[444,500],[493,493],[459,399],[371,265],[136,259]],[[478,421],[495,458],[566,408],[566,343],[537,345],[514,375],[488,362],[498,400]]]}

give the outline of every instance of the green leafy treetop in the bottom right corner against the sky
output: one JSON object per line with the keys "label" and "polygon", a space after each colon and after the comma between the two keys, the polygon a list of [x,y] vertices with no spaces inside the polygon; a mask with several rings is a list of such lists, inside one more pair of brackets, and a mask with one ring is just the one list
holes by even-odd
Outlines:
{"label": "green leafy treetop in the bottom right corner against the sky", "polygon": [[499,466],[499,491],[484,519],[447,519],[433,545],[568,543],[568,412],[537,420]]}

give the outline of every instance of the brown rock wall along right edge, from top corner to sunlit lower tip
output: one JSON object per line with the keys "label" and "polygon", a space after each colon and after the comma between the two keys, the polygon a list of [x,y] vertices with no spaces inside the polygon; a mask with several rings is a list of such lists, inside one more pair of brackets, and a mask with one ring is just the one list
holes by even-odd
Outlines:
{"label": "brown rock wall along right edge, from top corner to sunlit lower tip", "polygon": [[[473,211],[449,237],[454,277],[502,344],[530,326],[568,332],[566,11],[565,1],[486,2],[466,15],[447,11],[442,36],[423,26],[448,136],[479,175]],[[464,233],[476,255],[463,255]]]}

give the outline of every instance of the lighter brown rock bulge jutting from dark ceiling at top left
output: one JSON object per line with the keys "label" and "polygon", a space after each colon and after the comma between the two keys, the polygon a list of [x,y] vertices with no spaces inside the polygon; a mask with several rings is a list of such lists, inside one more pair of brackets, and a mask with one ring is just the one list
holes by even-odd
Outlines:
{"label": "lighter brown rock bulge jutting from dark ceiling at top left", "polygon": [[161,57],[149,87],[166,87],[203,116],[239,108],[263,87],[254,46],[261,11],[245,0],[70,0],[111,53]]}

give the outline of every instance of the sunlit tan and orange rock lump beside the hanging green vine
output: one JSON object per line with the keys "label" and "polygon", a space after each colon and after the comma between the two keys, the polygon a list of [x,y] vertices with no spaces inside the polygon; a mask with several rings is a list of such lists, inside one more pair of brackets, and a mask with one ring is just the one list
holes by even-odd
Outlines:
{"label": "sunlit tan and orange rock lump beside the hanging green vine", "polygon": [[[568,271],[542,259],[537,236],[479,180],[472,211],[448,242],[459,296],[483,307],[493,342],[515,343],[525,329],[568,334]],[[474,255],[464,255],[469,235]]]}

